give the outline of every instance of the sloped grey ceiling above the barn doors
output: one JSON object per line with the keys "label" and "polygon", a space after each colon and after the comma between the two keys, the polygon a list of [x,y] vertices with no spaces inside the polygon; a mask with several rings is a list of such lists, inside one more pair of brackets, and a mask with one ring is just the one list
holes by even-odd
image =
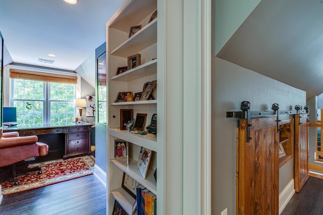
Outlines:
{"label": "sloped grey ceiling above the barn doors", "polygon": [[217,56],[310,99],[323,93],[322,26],[323,0],[262,0]]}

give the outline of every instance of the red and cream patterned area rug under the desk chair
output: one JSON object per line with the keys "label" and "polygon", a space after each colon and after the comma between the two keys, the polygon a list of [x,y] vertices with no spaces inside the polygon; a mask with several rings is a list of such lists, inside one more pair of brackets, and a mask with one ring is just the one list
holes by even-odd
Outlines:
{"label": "red and cream patterned area rug under the desk chair", "polygon": [[50,184],[87,176],[93,174],[95,160],[92,156],[83,156],[67,160],[59,159],[29,165],[41,167],[42,174],[37,172],[18,176],[19,185],[14,186],[12,180],[1,183],[2,194],[9,195],[17,192],[31,190]]}

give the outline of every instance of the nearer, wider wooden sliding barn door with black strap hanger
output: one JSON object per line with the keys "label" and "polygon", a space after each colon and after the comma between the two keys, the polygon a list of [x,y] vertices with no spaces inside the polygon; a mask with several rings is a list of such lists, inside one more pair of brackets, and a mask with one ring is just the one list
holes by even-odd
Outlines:
{"label": "nearer, wider wooden sliding barn door with black strap hanger", "polygon": [[239,214],[278,214],[279,152],[276,120],[277,117],[251,119],[250,142],[247,141],[247,120],[239,121]]}

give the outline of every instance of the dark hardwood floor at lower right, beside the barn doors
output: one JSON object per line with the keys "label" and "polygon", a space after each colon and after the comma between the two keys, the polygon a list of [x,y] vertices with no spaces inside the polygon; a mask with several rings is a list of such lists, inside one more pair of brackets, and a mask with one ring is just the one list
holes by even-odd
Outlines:
{"label": "dark hardwood floor at lower right, beside the barn doors", "polygon": [[295,193],[281,215],[323,214],[323,179],[309,177],[299,193]]}

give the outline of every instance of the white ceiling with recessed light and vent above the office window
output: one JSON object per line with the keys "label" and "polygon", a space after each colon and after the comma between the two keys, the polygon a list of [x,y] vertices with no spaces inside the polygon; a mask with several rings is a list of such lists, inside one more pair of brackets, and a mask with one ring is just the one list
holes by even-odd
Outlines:
{"label": "white ceiling with recessed light and vent above the office window", "polygon": [[[122,3],[1,0],[0,31],[15,63],[75,70],[105,42],[105,24]],[[55,62],[39,62],[38,58]]]}

